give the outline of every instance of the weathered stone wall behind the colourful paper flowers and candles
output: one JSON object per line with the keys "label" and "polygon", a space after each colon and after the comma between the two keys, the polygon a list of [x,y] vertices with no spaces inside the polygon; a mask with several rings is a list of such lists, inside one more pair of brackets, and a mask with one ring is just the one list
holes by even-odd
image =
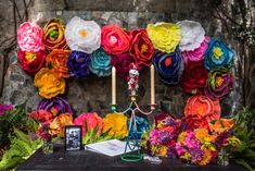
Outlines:
{"label": "weathered stone wall behind the colourful paper flowers and candles", "polygon": [[[204,8],[205,2],[205,0],[34,0],[29,10],[29,19],[36,19],[37,13],[41,12],[43,19],[40,21],[40,25],[43,25],[51,17],[60,17],[66,24],[73,16],[78,15],[84,20],[94,20],[101,25],[116,23],[129,29],[145,27],[148,23],[194,20],[202,23],[208,36],[226,37],[220,24]],[[228,39],[226,40],[228,41]],[[239,69],[239,61],[240,57],[235,58],[235,69]],[[235,70],[235,72],[238,75],[239,70]],[[15,60],[9,66],[4,80],[4,89],[0,103],[18,105],[28,100],[27,111],[36,109],[40,97],[34,87],[34,78],[26,75]],[[157,77],[155,83],[157,110],[168,111],[179,117],[182,115],[189,96],[183,94],[179,86],[166,86]],[[221,101],[225,115],[240,109],[242,103],[241,83],[242,80],[238,80],[234,91]],[[142,109],[149,109],[149,70],[140,73],[139,86],[139,103]],[[104,115],[110,112],[111,76],[103,78],[90,76],[81,81],[69,78],[63,97],[71,103],[75,114],[94,111]],[[127,83],[118,78],[118,109],[124,110],[128,102]]]}

